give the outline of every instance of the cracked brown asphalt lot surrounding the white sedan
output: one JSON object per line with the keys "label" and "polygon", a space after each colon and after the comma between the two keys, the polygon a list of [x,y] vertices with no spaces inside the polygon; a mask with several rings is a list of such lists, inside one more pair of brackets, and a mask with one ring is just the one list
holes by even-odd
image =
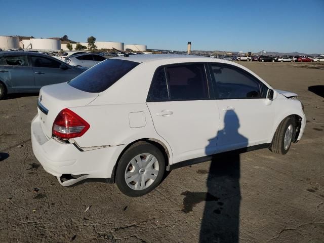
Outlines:
{"label": "cracked brown asphalt lot surrounding the white sedan", "polygon": [[0,101],[0,242],[324,242],[324,63],[240,64],[299,94],[301,141],[176,169],[137,198],[105,180],[60,186],[31,149],[37,94]]}

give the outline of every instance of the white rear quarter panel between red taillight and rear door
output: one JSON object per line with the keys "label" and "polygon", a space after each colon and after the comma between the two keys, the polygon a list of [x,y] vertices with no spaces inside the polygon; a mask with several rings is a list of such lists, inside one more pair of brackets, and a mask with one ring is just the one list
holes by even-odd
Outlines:
{"label": "white rear quarter panel between red taillight and rear door", "polygon": [[[172,150],[169,144],[154,129],[146,103],[88,105],[69,109],[90,124],[90,129],[82,137],[74,139],[80,147],[119,146],[144,138],[153,138],[162,142],[171,155]],[[132,128],[130,117],[134,114],[133,112],[143,114],[145,117],[144,126]],[[172,164],[172,156],[170,156],[169,162]]]}

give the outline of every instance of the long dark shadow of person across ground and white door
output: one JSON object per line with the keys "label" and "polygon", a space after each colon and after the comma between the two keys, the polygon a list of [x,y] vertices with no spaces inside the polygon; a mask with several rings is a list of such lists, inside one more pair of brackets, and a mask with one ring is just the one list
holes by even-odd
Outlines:
{"label": "long dark shadow of person across ground and white door", "polygon": [[242,149],[213,156],[207,179],[208,192],[200,227],[200,242],[238,242],[241,199],[239,153],[246,151],[244,148],[248,146],[248,139],[238,133],[239,126],[236,113],[226,111],[224,129],[217,134],[217,145],[227,147],[236,144],[235,148]]}

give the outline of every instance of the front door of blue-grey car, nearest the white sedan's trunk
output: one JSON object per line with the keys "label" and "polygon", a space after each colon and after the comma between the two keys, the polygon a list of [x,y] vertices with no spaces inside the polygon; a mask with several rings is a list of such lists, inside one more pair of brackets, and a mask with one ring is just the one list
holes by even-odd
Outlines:
{"label": "front door of blue-grey car, nearest the white sedan's trunk", "polygon": [[51,57],[31,56],[31,63],[38,89],[45,85],[67,82],[77,76],[71,67]]}

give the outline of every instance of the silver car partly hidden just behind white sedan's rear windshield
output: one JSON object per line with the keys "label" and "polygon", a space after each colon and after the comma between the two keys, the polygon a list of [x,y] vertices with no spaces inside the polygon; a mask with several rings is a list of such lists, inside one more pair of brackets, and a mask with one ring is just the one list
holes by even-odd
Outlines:
{"label": "silver car partly hidden just behind white sedan's rear windshield", "polygon": [[106,60],[105,57],[97,54],[79,54],[69,56],[64,61],[72,66],[92,67],[101,61]]}

